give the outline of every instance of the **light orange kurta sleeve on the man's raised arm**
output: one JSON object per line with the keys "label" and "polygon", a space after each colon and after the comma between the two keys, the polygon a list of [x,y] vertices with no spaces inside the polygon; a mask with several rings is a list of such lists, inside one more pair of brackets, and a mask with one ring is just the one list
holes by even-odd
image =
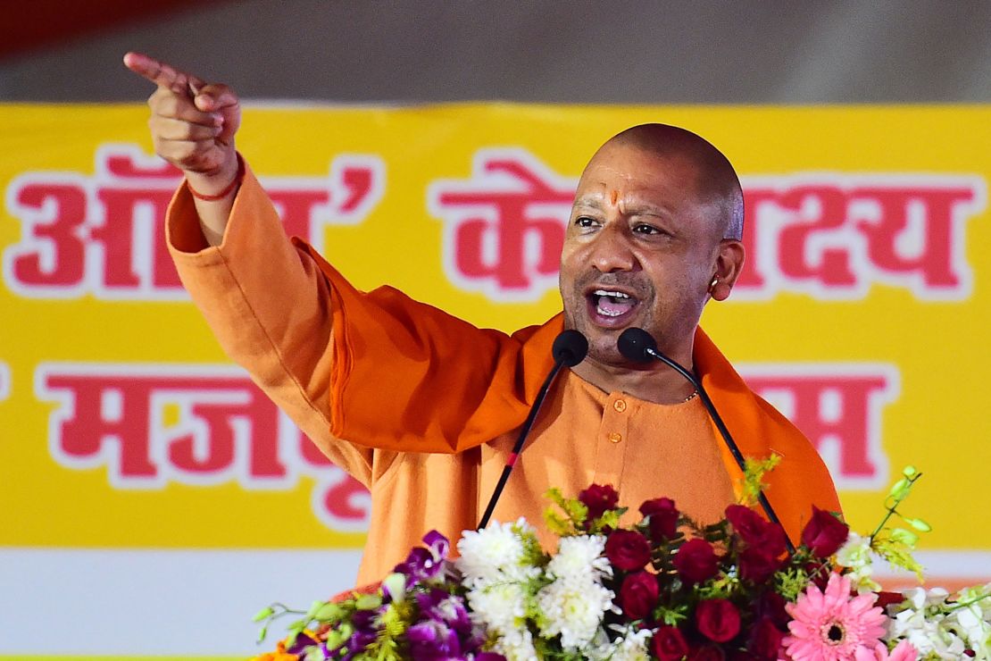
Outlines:
{"label": "light orange kurta sleeve on the man's raised arm", "polygon": [[168,207],[165,231],[179,278],[223,350],[331,461],[369,486],[387,468],[385,458],[330,432],[330,284],[289,242],[252,171],[220,246],[206,245],[185,183]]}

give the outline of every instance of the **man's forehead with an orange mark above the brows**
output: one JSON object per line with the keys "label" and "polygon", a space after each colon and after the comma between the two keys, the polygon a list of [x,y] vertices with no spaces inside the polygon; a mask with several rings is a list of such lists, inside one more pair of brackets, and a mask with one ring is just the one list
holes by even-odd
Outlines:
{"label": "man's forehead with an orange mark above the brows", "polygon": [[575,199],[621,197],[665,205],[698,201],[699,175],[698,165],[684,156],[606,144],[582,172]]}

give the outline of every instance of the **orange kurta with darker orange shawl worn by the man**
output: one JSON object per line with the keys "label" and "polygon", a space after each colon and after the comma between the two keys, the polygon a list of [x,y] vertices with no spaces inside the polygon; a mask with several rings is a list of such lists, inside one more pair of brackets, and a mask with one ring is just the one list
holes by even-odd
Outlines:
{"label": "orange kurta with darker orange shawl worn by the man", "polygon": [[[512,336],[477,329],[390,287],[363,293],[285,239],[249,171],[223,244],[204,245],[192,198],[169,207],[179,275],[227,353],[372,494],[358,582],[381,579],[429,529],[474,527],[551,366],[560,315]],[[374,259],[374,256],[371,257]],[[782,456],[768,497],[793,539],[812,503],[838,510],[811,444],[753,394],[700,330],[695,368],[745,455]],[[711,521],[739,472],[698,398],[603,392],[570,371],[552,389],[495,509],[541,527],[541,495],[612,484],[635,510],[671,496]],[[541,538],[549,536],[541,531]]]}

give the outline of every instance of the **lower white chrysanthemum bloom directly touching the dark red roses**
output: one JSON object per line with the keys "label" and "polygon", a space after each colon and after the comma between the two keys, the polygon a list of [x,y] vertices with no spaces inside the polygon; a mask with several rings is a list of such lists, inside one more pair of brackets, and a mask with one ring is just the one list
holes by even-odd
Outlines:
{"label": "lower white chrysanthemum bloom directly touching the dark red roses", "polygon": [[589,644],[612,606],[612,591],[591,580],[560,578],[537,593],[540,634],[561,635],[561,646],[574,652]]}

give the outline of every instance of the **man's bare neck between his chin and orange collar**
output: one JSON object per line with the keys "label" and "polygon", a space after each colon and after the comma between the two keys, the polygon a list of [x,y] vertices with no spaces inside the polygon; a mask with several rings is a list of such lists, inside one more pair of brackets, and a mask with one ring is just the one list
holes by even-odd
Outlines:
{"label": "man's bare neck between his chin and orange collar", "polygon": [[[671,358],[686,369],[693,369],[691,351],[688,360],[684,356]],[[695,387],[684,377],[659,361],[629,368],[606,365],[590,357],[571,370],[605,392],[618,390],[658,404],[681,403],[695,392]]]}

